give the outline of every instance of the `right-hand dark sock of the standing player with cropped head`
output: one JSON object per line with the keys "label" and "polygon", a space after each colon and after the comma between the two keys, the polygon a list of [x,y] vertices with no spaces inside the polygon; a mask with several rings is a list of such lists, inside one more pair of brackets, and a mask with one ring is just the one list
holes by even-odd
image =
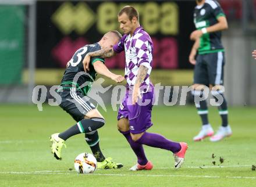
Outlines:
{"label": "right-hand dark sock of the standing player with cropped head", "polygon": [[219,115],[221,116],[221,120],[222,120],[222,127],[227,127],[228,120],[227,120],[227,101],[223,95],[223,93],[221,91],[212,91],[212,96],[214,96],[216,103],[221,102],[221,99],[218,99],[219,97],[223,98],[223,102],[219,103],[221,104],[220,106],[218,106],[218,110],[219,110]]}

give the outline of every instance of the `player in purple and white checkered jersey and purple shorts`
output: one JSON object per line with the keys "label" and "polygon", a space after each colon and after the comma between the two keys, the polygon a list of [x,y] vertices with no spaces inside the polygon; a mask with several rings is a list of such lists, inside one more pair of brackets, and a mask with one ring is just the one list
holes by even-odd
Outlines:
{"label": "player in purple and white checkered jersey and purple shorts", "polygon": [[[137,164],[130,170],[152,169],[153,165],[145,156],[143,145],[172,152],[175,168],[179,168],[184,162],[187,143],[173,142],[162,135],[147,132],[152,126],[154,95],[154,86],[150,81],[153,55],[150,35],[140,26],[138,12],[132,6],[125,6],[120,10],[118,21],[124,33],[119,43],[109,49],[88,53],[84,64],[87,66],[90,57],[110,57],[125,51],[127,92],[118,111],[118,130],[125,136],[137,156]],[[88,70],[88,67],[85,69]]]}

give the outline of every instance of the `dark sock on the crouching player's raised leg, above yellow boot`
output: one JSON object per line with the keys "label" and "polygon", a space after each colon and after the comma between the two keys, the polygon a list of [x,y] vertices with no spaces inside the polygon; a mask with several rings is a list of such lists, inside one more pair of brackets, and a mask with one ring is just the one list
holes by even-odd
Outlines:
{"label": "dark sock on the crouching player's raised leg, above yellow boot", "polygon": [[99,117],[83,119],[79,121],[76,125],[73,125],[68,130],[59,134],[59,138],[62,138],[63,140],[66,141],[66,139],[76,134],[95,131],[98,128],[101,128],[104,124],[105,124],[105,120]]}

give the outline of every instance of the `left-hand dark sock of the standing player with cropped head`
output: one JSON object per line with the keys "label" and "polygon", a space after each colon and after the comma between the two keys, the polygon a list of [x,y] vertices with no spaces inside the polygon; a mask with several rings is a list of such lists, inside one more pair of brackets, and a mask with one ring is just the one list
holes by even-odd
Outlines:
{"label": "left-hand dark sock of the standing player with cropped head", "polygon": [[[191,94],[193,95],[193,98],[195,96],[200,96],[200,98],[202,98],[203,96],[203,92],[202,91],[192,91]],[[208,125],[209,121],[208,121],[208,107],[207,107],[207,101],[205,100],[201,100],[200,102],[195,101],[195,107],[197,107],[197,113],[199,114],[199,116],[201,117],[201,121],[202,121],[202,125]]]}

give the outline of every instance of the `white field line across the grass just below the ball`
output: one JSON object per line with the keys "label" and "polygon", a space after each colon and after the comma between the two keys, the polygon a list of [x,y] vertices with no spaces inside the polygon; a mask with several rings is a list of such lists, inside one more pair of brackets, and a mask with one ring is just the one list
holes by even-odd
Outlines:
{"label": "white field line across the grass just below the ball", "polygon": [[[65,171],[31,171],[31,172],[15,172],[15,171],[10,171],[10,172],[0,172],[0,174],[23,174],[23,175],[34,175],[34,174],[48,174],[48,175],[71,175],[74,174],[74,172],[65,172]],[[233,179],[256,179],[256,177],[241,177],[241,176],[236,176],[236,177],[221,177],[221,176],[208,176],[208,175],[142,175],[142,174],[93,174],[93,175],[99,175],[99,176],[116,176],[116,177],[187,177],[187,178],[233,178]]]}

